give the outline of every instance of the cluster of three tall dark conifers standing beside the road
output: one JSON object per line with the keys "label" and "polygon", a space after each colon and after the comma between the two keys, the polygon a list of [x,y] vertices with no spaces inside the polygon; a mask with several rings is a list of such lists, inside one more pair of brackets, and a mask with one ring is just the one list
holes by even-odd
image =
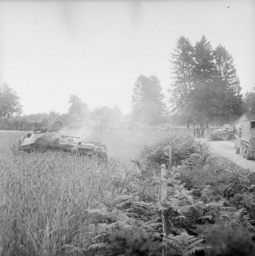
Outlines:
{"label": "cluster of three tall dark conifers standing beside the road", "polygon": [[169,90],[174,111],[187,127],[193,120],[205,123],[214,118],[228,121],[241,115],[241,87],[233,57],[225,47],[213,50],[203,35],[194,47],[180,37],[172,55],[173,83]]}

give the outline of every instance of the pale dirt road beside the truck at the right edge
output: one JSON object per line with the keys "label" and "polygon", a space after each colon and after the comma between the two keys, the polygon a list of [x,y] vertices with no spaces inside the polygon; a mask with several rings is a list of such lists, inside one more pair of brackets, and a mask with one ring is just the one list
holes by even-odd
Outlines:
{"label": "pale dirt road beside the truck at the right edge", "polygon": [[[208,141],[207,139],[201,139]],[[234,142],[231,141],[208,141],[210,151],[214,155],[223,156],[231,159],[237,165],[255,171],[255,160],[246,160],[241,154],[236,154],[234,149]]]}

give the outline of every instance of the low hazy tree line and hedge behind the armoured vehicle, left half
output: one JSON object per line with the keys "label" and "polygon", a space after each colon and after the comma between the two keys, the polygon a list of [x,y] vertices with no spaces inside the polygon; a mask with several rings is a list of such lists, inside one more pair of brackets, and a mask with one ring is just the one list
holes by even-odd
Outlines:
{"label": "low hazy tree line and hedge behind the armoured vehicle, left half", "polygon": [[[5,100],[1,101],[1,99]],[[68,104],[70,107],[65,114],[51,110],[49,113],[21,115],[22,106],[19,103],[19,97],[9,85],[5,84],[0,89],[0,129],[29,131],[33,129],[34,122],[40,123],[44,128],[50,128],[56,120],[69,125],[75,123],[77,119],[107,125],[117,124],[123,119],[118,106],[113,108],[104,106],[90,110],[77,95],[70,95]]]}

